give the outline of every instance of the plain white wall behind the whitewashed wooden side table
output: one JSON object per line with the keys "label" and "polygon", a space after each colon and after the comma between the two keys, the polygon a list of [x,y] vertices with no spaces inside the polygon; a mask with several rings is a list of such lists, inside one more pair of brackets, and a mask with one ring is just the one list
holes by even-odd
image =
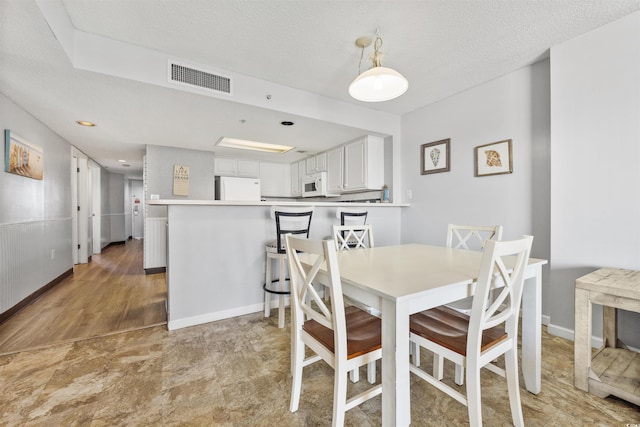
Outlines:
{"label": "plain white wall behind the whitewashed wooden side table", "polygon": [[[640,12],[551,49],[551,105],[551,322],[570,334],[576,278],[640,268]],[[629,345],[639,320],[619,316]]]}

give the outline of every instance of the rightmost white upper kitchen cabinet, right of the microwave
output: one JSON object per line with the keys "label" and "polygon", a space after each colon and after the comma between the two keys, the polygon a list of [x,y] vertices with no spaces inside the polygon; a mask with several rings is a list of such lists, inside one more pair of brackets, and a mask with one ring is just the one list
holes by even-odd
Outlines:
{"label": "rightmost white upper kitchen cabinet, right of the microwave", "polygon": [[384,139],[366,136],[344,146],[343,191],[380,190],[384,185]]}

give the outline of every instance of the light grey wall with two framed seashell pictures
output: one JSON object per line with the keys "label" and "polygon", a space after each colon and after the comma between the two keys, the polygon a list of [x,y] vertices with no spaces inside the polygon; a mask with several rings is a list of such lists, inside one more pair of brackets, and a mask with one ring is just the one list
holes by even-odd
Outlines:
{"label": "light grey wall with two framed seashell pictures", "polygon": [[[448,223],[500,224],[505,239],[533,234],[533,255],[548,258],[548,70],[542,61],[403,116],[403,243],[444,245]],[[451,171],[420,175],[420,145],[445,138]],[[474,177],[474,147],[505,139],[513,173]]]}

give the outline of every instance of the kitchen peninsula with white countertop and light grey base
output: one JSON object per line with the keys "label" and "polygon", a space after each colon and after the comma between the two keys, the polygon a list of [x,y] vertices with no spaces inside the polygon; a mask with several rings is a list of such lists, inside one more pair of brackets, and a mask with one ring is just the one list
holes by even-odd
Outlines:
{"label": "kitchen peninsula with white countertop and light grey base", "polygon": [[341,202],[227,202],[148,200],[167,206],[167,321],[169,330],[263,309],[265,243],[275,238],[273,205],[314,206],[310,237],[326,238],[338,207],[366,207],[376,246],[400,243],[407,204]]}

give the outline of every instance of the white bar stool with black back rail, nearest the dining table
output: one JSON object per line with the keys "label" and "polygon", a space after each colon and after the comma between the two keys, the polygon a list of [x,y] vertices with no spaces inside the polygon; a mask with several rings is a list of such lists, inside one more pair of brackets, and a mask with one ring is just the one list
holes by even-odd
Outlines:
{"label": "white bar stool with black back rail, nearest the dining table", "polygon": [[[276,239],[266,244],[267,265],[264,289],[264,317],[271,315],[271,295],[278,296],[278,327],[284,328],[284,297],[291,294],[286,289],[285,282],[289,279],[286,276],[287,252],[285,249],[284,236],[286,234],[300,234],[309,238],[311,228],[311,216],[313,207],[292,207],[292,206],[272,206],[271,218],[276,223]],[[273,277],[272,263],[278,261],[278,277]],[[275,283],[275,287],[273,284]]]}

